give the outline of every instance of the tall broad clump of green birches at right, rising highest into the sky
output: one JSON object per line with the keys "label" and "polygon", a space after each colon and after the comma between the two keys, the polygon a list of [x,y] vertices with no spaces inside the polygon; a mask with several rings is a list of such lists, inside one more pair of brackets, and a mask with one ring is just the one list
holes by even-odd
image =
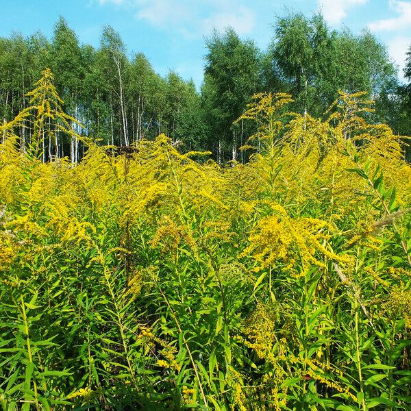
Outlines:
{"label": "tall broad clump of green birches at right, rising highest into the sky", "polygon": [[[397,72],[386,47],[368,30],[358,36],[330,31],[321,14],[278,18],[269,56],[271,77],[282,79],[281,91],[292,95],[297,112],[321,115],[338,90],[366,91],[376,101],[395,94]],[[377,109],[382,115],[384,105]],[[386,119],[377,112],[375,121]]]}

